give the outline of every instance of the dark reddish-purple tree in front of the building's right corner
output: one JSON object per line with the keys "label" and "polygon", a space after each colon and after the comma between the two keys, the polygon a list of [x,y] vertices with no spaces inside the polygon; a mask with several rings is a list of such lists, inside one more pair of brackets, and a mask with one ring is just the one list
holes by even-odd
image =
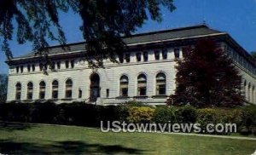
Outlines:
{"label": "dark reddish-purple tree in front of the building's right corner", "polygon": [[192,106],[240,106],[241,76],[232,60],[216,43],[203,39],[183,52],[177,61],[174,95],[168,104]]}

